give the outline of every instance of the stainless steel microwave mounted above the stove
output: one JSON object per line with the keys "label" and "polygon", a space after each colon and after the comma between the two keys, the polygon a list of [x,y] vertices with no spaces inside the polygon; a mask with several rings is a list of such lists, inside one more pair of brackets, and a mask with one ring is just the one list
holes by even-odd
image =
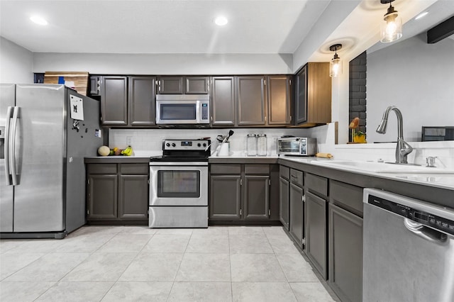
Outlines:
{"label": "stainless steel microwave mounted above the stove", "polygon": [[209,94],[157,94],[156,123],[209,124]]}

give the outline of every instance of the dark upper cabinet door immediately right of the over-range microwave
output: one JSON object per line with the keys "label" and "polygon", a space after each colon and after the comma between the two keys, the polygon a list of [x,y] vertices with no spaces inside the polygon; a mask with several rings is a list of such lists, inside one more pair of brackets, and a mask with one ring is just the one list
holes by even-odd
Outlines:
{"label": "dark upper cabinet door immediately right of the over-range microwave", "polygon": [[235,125],[235,82],[233,77],[213,77],[211,125]]}

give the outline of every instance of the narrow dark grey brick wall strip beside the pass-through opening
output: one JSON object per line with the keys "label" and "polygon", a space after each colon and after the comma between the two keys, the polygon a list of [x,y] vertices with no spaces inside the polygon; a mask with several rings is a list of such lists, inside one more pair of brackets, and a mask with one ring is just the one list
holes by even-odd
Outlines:
{"label": "narrow dark grey brick wall strip beside the pass-through opening", "polygon": [[[353,118],[360,118],[360,127],[357,130],[366,132],[366,79],[367,79],[367,54],[361,55],[350,61],[348,123]],[[351,130],[348,129],[350,142]]]}

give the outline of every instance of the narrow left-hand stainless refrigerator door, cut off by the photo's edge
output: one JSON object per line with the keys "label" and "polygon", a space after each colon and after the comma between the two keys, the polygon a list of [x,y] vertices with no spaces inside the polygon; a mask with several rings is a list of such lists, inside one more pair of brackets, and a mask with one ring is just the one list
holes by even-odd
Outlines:
{"label": "narrow left-hand stainless refrigerator door, cut off by the photo's edge", "polygon": [[0,84],[0,232],[13,231],[13,186],[6,184],[6,111],[14,106],[15,84]]}

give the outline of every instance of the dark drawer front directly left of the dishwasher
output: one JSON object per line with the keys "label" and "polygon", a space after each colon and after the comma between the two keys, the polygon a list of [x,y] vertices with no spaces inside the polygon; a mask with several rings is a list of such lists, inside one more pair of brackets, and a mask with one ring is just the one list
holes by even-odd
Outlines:
{"label": "dark drawer front directly left of the dishwasher", "polygon": [[335,180],[330,180],[329,184],[330,201],[362,217],[362,188]]}

